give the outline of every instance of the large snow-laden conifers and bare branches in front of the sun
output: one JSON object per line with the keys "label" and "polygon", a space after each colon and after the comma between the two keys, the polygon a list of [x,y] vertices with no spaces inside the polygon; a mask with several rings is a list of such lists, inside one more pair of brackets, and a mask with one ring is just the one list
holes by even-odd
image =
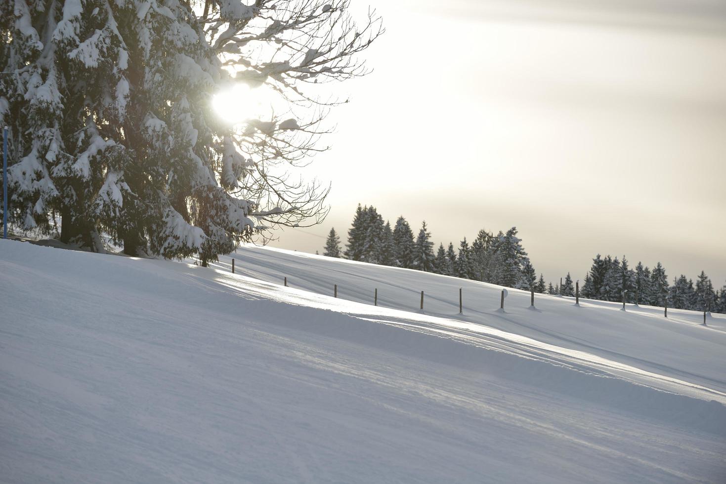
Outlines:
{"label": "large snow-laden conifers and bare branches in front of the sun", "polygon": [[363,73],[354,57],[381,31],[348,12],[348,0],[0,2],[10,221],[48,232],[60,219],[62,242],[103,250],[103,231],[126,253],[203,265],[274,226],[318,223],[327,189],[287,174],[322,149],[322,118],[230,126],[211,101],[246,83],[329,104],[305,85]]}

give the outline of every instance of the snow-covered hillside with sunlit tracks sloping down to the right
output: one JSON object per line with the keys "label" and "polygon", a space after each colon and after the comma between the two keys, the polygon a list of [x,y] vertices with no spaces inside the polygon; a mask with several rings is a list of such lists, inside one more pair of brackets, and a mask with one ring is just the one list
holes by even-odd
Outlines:
{"label": "snow-covered hillside with sunlit tracks sloping down to the right", "polygon": [[234,257],[0,240],[0,480],[726,480],[722,316]]}

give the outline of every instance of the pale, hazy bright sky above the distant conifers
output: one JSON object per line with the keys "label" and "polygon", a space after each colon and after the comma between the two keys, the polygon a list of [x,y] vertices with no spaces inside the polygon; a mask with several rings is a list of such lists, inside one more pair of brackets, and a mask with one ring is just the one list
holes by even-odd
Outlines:
{"label": "pale, hazy bright sky above the distant conifers", "polygon": [[322,253],[361,203],[437,247],[517,226],[547,281],[600,253],[726,283],[723,1],[353,4],[386,33],[305,170],[330,214],[273,246]]}

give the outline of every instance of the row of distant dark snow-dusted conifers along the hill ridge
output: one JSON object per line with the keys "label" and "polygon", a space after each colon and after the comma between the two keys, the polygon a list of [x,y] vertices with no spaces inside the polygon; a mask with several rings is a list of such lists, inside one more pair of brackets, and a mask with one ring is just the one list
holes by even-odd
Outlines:
{"label": "row of distant dark snow-dusted conifers along the hill ridge", "polygon": [[[481,229],[471,244],[464,237],[457,249],[434,243],[426,222],[421,223],[417,236],[408,221],[399,216],[396,225],[384,223],[383,216],[371,206],[358,205],[345,250],[335,228],[330,229],[323,255],[416,269],[434,274],[490,282],[515,289],[532,290],[543,294],[574,296],[575,284],[568,272],[562,284],[545,283],[544,276],[535,271],[529,256],[517,237],[516,227],[507,231]],[[726,285],[714,290],[711,279],[704,271],[696,279],[681,274],[670,285],[666,269],[658,262],[652,269],[640,261],[630,268],[627,258],[602,257],[592,259],[592,267],[585,274],[580,295],[583,298],[645,305],[668,305],[670,308],[726,313]]]}

